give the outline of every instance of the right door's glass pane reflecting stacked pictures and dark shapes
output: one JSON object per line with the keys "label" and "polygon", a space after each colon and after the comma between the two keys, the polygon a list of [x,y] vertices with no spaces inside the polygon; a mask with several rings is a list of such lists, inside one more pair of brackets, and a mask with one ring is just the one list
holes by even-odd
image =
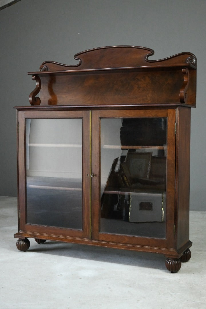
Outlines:
{"label": "right door's glass pane reflecting stacked pictures and dark shapes", "polygon": [[167,118],[101,119],[100,231],[166,238]]}

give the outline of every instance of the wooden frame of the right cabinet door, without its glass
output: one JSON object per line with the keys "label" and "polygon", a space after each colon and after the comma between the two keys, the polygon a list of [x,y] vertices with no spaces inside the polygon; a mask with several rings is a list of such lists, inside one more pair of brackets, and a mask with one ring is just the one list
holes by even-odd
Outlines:
{"label": "wooden frame of the right cabinet door, without its glass", "polygon": [[[137,117],[167,117],[167,180],[166,180],[166,239],[120,235],[100,232],[100,119],[101,118],[137,118]],[[174,109],[136,109],[136,110],[95,110],[92,111],[92,161],[91,170],[95,177],[91,182],[91,236],[94,240],[110,243],[174,248],[174,213],[175,213],[175,122]]]}

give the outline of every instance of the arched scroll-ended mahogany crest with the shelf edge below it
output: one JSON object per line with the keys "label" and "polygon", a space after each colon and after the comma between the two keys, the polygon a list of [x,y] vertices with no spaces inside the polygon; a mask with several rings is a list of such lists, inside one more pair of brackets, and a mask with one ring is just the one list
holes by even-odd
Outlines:
{"label": "arched scroll-ended mahogany crest with the shelf edge below it", "polygon": [[153,54],[153,49],[138,46],[100,47],[77,53],[74,56],[74,59],[78,61],[76,65],[65,65],[54,61],[44,61],[40,66],[39,72],[28,72],[28,74],[173,66],[190,66],[196,69],[197,66],[197,59],[192,53],[185,52],[159,60],[149,60],[148,57]]}

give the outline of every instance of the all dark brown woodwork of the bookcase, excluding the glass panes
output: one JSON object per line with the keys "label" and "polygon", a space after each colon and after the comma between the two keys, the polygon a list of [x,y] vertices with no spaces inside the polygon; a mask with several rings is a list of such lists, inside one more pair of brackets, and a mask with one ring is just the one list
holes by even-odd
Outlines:
{"label": "all dark brown woodwork of the bookcase, excluding the glass panes", "polygon": [[[151,60],[153,53],[137,46],[101,47],[76,54],[76,65],[45,61],[39,72],[28,73],[36,81],[29,95],[32,106],[17,107],[19,250],[29,248],[31,237],[38,243],[161,253],[171,272],[190,259],[190,111],[196,107],[197,60],[187,52]],[[134,117],[168,119],[165,239],[100,232],[100,120]],[[27,223],[26,118],[82,118],[82,230]]]}

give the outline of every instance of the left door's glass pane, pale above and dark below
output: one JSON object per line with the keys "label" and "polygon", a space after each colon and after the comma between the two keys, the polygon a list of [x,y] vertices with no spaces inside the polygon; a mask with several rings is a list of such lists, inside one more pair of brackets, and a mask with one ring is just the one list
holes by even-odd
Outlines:
{"label": "left door's glass pane, pale above and dark below", "polygon": [[26,119],[27,223],[82,229],[82,119]]}

